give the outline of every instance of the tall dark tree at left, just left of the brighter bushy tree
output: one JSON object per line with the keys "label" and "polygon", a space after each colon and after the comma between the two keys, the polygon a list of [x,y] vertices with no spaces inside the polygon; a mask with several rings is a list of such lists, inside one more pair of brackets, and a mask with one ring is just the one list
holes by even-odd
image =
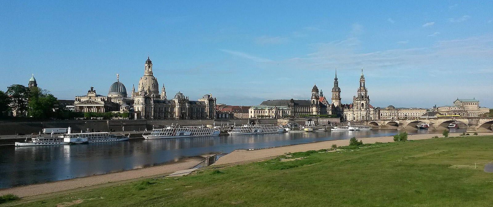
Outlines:
{"label": "tall dark tree at left, just left of the brighter bushy tree", "polygon": [[30,90],[23,85],[14,84],[7,88],[7,95],[10,95],[11,107],[17,112],[17,116],[23,116],[28,109]]}

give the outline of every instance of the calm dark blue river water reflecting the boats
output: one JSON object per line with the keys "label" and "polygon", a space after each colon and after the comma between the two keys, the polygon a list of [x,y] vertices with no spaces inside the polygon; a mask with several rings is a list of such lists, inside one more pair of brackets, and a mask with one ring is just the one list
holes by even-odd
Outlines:
{"label": "calm dark blue river water reflecting the boats", "polygon": [[[428,130],[406,131],[410,134],[428,133]],[[351,137],[391,136],[397,133],[396,129],[385,129],[131,139],[124,142],[17,148],[0,146],[0,188],[119,172],[177,161],[182,157],[229,153],[235,149],[272,148]]]}

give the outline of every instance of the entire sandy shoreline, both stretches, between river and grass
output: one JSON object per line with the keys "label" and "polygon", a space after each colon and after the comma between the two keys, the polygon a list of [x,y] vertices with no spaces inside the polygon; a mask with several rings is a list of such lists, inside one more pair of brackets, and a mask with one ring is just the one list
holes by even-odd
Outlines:
{"label": "entire sandy shoreline, both stretches, between river and grass", "polygon": [[[479,135],[492,135],[492,133],[479,133]],[[409,140],[422,140],[431,139],[433,136],[443,137],[439,134],[415,134],[409,135]],[[459,133],[452,133],[449,136],[455,137],[459,136]],[[471,135],[467,137],[474,137],[476,135]],[[358,138],[363,140],[363,143],[375,143],[375,142],[393,142],[392,136],[388,137],[368,137],[368,138]],[[290,145],[284,147],[275,148],[263,148],[263,149],[237,149],[229,154],[220,157],[212,167],[222,167],[230,166],[236,164],[243,164],[248,162],[261,161],[266,159],[271,159],[276,156],[283,155],[290,152],[298,151],[308,151],[308,150],[319,150],[331,148],[331,145],[336,144],[337,146],[347,146],[349,145],[349,139],[344,140],[330,140],[321,141],[316,143],[298,144]],[[128,171],[108,173],[103,175],[79,177],[67,180],[53,181],[48,183],[33,184],[27,186],[18,186],[6,189],[0,189],[0,195],[4,194],[14,194],[19,197],[30,197],[39,196],[44,194],[56,193],[61,191],[69,190],[80,190],[80,188],[89,187],[96,188],[100,186],[118,184],[119,182],[127,182],[142,178],[152,178],[166,176],[171,173],[180,170],[191,169],[199,165],[204,159],[188,157],[180,159],[178,162],[163,164],[159,166],[145,167],[139,169],[133,169]]]}

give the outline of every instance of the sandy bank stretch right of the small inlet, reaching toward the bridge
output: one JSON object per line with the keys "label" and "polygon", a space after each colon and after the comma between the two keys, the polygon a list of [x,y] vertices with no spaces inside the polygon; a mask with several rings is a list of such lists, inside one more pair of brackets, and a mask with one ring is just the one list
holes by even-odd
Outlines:
{"label": "sandy bank stretch right of the small inlet, reaching toward the bridge", "polygon": [[[479,135],[493,135],[492,133],[479,133]],[[441,134],[414,134],[409,135],[409,140],[423,140],[431,139],[433,136],[443,137]],[[459,133],[451,133],[449,137],[457,137]],[[474,135],[471,135],[474,136]],[[369,138],[358,138],[358,140],[363,140],[363,143],[375,143],[375,142],[393,142],[393,137],[369,137]],[[242,164],[246,162],[260,161],[265,159],[270,159],[272,157],[280,156],[285,153],[298,152],[298,151],[308,151],[308,150],[319,150],[331,148],[333,144],[337,146],[347,146],[349,145],[349,139],[347,140],[331,140],[323,141],[317,143],[308,143],[300,145],[292,145],[277,148],[266,148],[266,149],[237,149],[231,153],[220,157],[212,165],[232,165],[232,164]]]}

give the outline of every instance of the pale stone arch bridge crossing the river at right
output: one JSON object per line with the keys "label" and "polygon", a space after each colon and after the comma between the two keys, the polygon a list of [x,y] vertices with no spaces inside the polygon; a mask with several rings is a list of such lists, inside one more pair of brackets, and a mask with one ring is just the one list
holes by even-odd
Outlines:
{"label": "pale stone arch bridge crossing the river at right", "polygon": [[368,120],[354,122],[379,128],[416,129],[420,123],[428,123],[428,130],[446,130],[450,123],[460,121],[467,125],[467,132],[491,132],[493,118],[416,118],[392,120]]}

